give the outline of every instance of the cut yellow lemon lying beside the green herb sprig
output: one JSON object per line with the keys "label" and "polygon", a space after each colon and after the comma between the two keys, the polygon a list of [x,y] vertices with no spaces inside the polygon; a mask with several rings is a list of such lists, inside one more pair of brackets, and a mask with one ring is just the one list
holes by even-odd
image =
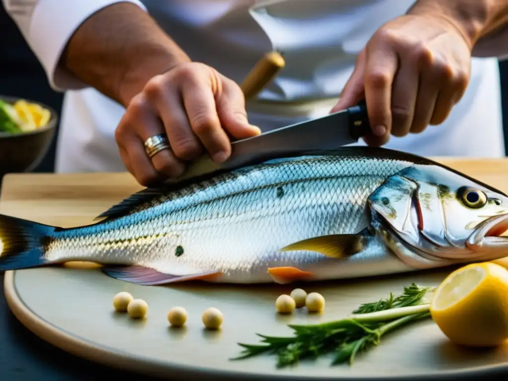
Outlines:
{"label": "cut yellow lemon lying beside the green herb sprig", "polygon": [[437,288],[430,313],[456,344],[501,344],[508,339],[508,270],[491,262],[455,270]]}

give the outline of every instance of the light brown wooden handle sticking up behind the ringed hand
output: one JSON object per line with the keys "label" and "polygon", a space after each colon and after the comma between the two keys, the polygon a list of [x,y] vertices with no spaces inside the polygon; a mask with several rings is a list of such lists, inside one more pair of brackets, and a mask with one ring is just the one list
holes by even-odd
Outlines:
{"label": "light brown wooden handle sticking up behind the ringed hand", "polygon": [[285,61],[280,53],[270,52],[265,54],[240,85],[245,100],[255,97],[277,75],[284,65]]}

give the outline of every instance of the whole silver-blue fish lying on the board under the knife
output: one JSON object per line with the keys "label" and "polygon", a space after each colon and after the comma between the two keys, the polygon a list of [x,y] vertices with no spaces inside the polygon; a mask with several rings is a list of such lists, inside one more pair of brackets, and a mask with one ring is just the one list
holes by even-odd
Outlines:
{"label": "whole silver-blue fish lying on the board under the knife", "polygon": [[85,261],[142,285],[287,284],[500,259],[506,230],[500,190],[414,154],[342,147],[145,188],[79,227],[0,215],[0,271]]}

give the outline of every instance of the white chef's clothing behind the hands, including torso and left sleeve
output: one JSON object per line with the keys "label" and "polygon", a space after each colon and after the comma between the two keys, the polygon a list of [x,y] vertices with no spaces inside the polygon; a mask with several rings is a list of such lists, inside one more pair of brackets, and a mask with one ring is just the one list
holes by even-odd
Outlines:
{"label": "white chef's clothing behind the hands, including torso and left sleeve", "polygon": [[[377,28],[414,0],[128,0],[165,29],[195,61],[237,83],[268,51],[286,66],[247,106],[263,131],[327,114]],[[57,172],[124,171],[114,130],[125,109],[57,66],[79,25],[119,0],[3,0],[44,67],[66,91],[57,142]],[[448,119],[421,134],[391,137],[386,147],[430,156],[504,155],[496,58],[473,58],[462,100]],[[359,144],[364,144],[360,142]]]}

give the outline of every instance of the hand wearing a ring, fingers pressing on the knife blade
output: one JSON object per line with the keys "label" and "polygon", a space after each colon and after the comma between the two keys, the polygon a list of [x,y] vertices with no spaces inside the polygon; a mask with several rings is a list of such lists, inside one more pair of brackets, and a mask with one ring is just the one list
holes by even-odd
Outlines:
{"label": "hand wearing a ring, fingers pressing on the knife blade", "polygon": [[[159,134],[167,134],[171,149],[150,159],[144,142]],[[185,62],[148,81],[126,108],[115,139],[125,167],[150,186],[180,176],[185,162],[201,154],[223,162],[231,154],[230,137],[258,134],[233,80],[203,63]]]}

